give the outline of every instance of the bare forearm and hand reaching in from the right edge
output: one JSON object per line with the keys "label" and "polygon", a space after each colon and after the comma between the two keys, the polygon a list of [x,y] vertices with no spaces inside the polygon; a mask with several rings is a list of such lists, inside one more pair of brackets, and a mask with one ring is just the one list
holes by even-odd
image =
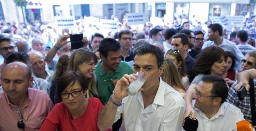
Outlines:
{"label": "bare forearm and hand reaching in from the right edge", "polygon": [[241,73],[238,74],[237,82],[238,84],[235,86],[235,90],[237,91],[239,88],[241,88],[242,85],[245,85],[245,88],[247,91],[249,91],[249,79],[256,77],[256,69],[247,69]]}

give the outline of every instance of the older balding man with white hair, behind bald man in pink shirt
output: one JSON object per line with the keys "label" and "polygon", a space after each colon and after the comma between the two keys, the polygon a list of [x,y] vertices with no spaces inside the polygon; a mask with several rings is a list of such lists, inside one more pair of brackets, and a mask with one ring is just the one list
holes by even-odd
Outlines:
{"label": "older balding man with white hair, behind bald man in pink shirt", "polygon": [[33,50],[28,52],[28,56],[32,64],[33,77],[43,78],[51,84],[53,78],[53,71],[46,70],[43,54],[39,51]]}

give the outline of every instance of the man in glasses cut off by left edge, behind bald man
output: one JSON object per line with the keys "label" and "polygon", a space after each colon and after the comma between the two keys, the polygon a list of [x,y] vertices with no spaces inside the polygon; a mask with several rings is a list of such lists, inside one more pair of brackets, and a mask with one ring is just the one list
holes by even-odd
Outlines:
{"label": "man in glasses cut off by left edge, behind bald man", "polygon": [[[9,54],[17,52],[17,46],[14,41],[8,37],[0,37],[0,54],[4,57],[4,63],[0,65],[0,72],[2,73],[3,67],[6,65],[5,61]],[[0,85],[2,85],[2,74],[0,73]]]}

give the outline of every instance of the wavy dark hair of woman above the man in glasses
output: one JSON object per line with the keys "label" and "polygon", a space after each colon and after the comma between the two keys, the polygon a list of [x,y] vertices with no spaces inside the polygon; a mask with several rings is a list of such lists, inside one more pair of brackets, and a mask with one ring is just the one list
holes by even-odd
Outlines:
{"label": "wavy dark hair of woman above the man in glasses", "polygon": [[192,73],[189,76],[189,81],[193,81],[198,74],[211,74],[211,68],[214,62],[217,62],[221,56],[227,59],[226,52],[220,47],[206,47],[197,55],[196,63],[192,67]]}

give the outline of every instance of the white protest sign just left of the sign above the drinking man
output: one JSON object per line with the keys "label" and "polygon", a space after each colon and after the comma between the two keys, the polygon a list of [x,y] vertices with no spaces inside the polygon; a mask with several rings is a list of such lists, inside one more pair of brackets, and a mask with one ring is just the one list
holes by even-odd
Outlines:
{"label": "white protest sign just left of the sign above the drinking man", "polygon": [[100,19],[100,23],[104,30],[116,32],[118,29],[118,24],[115,20]]}

